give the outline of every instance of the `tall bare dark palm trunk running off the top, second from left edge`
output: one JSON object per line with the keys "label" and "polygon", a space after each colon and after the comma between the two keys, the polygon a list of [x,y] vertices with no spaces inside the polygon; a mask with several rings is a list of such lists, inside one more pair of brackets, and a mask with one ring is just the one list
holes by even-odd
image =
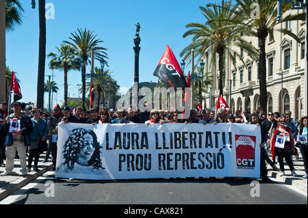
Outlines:
{"label": "tall bare dark palm trunk running off the top, second from left edge", "polygon": [[38,49],[38,87],[36,104],[38,108],[44,107],[44,76],[46,58],[46,18],[45,0],[38,1],[38,14],[40,23],[40,39]]}

